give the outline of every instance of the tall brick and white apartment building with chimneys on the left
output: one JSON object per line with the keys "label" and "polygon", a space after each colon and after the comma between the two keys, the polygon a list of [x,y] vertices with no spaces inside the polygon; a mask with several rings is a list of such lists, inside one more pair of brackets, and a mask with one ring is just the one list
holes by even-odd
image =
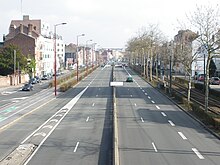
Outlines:
{"label": "tall brick and white apartment building with chimneys on the left", "polygon": [[[30,20],[28,15],[23,20],[12,20],[4,45],[16,45],[28,59],[35,60],[35,75],[54,73],[54,34],[50,25],[40,19]],[[56,36],[57,71],[64,68],[65,45],[62,36]]]}

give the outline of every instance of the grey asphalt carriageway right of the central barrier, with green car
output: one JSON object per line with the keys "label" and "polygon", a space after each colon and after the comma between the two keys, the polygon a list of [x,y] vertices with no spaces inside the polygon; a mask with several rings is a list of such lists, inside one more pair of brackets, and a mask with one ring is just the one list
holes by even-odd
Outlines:
{"label": "grey asphalt carriageway right of the central barrier, with green car", "polygon": [[218,165],[220,142],[128,68],[115,68],[120,165]]}

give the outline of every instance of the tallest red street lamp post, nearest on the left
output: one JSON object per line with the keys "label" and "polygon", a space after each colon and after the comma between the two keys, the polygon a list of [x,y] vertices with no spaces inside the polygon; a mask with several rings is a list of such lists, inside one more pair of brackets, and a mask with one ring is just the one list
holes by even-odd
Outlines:
{"label": "tallest red street lamp post, nearest on the left", "polygon": [[56,38],[57,38],[57,34],[56,34],[56,28],[59,25],[65,25],[66,23],[59,23],[54,25],[54,95],[57,95],[57,49],[56,49]]}

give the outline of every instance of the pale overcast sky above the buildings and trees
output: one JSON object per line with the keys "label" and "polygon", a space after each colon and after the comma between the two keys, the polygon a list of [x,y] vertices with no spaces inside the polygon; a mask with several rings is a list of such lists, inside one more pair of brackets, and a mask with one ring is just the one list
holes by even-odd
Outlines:
{"label": "pale overcast sky above the buildings and trees", "polygon": [[179,30],[177,20],[186,22],[196,5],[217,4],[219,0],[0,0],[0,41],[11,20],[29,15],[49,23],[52,31],[54,24],[66,22],[57,27],[66,44],[76,43],[76,36],[85,33],[80,44],[92,39],[103,48],[122,48],[149,24],[158,24],[171,39]]}

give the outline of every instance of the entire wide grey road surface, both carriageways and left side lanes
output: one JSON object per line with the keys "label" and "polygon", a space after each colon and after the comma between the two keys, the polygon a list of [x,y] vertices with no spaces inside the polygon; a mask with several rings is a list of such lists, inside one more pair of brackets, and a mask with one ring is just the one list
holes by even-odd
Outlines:
{"label": "entire wide grey road surface, both carriageways and left side lanes", "polygon": [[47,81],[19,89],[0,93],[0,165],[219,165],[219,139],[129,67],[114,79],[99,67],[56,97]]}

